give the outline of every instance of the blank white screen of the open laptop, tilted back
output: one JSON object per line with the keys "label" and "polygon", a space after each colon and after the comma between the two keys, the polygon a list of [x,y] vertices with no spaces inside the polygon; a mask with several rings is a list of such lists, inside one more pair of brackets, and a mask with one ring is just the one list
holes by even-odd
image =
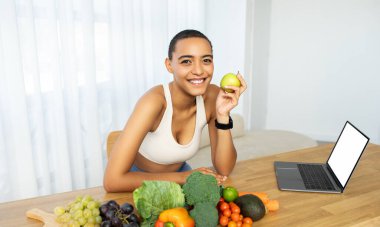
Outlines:
{"label": "blank white screen of the open laptop, tilted back", "polygon": [[369,138],[346,122],[327,163],[343,188],[346,186]]}

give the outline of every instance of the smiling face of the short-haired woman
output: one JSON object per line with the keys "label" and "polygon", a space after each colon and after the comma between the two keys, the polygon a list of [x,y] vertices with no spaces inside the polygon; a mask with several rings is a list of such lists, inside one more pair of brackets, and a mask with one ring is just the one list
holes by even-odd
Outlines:
{"label": "smiling face of the short-haired woman", "polygon": [[179,40],[174,49],[172,60],[165,62],[174,82],[192,96],[204,94],[214,72],[210,44],[203,38],[186,38]]}

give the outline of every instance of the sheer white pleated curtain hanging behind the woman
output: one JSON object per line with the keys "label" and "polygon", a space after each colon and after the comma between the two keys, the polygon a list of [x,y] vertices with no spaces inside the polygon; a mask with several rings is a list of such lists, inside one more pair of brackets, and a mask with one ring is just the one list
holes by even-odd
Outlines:
{"label": "sheer white pleated curtain hanging behind the woman", "polygon": [[0,0],[0,202],[102,185],[106,137],[167,83],[202,0]]}

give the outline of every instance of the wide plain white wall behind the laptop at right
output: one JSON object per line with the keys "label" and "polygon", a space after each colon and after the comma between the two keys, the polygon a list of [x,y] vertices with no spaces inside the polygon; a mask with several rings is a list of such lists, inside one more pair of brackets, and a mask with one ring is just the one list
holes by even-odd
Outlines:
{"label": "wide plain white wall behind the laptop at right", "polygon": [[[255,109],[265,117],[253,126],[334,141],[349,120],[379,144],[380,1],[255,2],[255,24],[270,22],[270,31],[265,44],[254,29],[254,63],[268,62],[254,75],[264,86],[254,97],[264,97],[266,109]],[[259,16],[260,4],[270,7],[269,19]]]}

